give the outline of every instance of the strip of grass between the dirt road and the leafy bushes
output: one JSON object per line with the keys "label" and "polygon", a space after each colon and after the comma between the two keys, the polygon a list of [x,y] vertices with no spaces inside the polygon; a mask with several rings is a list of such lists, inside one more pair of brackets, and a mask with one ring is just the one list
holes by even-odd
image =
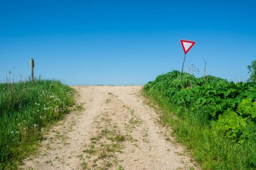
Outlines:
{"label": "strip of grass between the dirt road and the leafy bushes", "polygon": [[211,128],[203,111],[172,105],[154,90],[145,91],[145,95],[161,110],[161,120],[172,126],[174,136],[187,146],[203,169],[255,169],[255,141],[232,143]]}

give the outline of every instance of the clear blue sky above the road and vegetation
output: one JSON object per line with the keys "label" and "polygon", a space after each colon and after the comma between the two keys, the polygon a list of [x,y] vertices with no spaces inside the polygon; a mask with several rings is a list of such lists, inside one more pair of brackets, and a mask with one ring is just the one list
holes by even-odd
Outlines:
{"label": "clear blue sky above the road and vegetation", "polygon": [[[245,81],[256,54],[256,1],[3,1],[0,80],[35,75],[69,85],[142,85],[181,70],[180,40],[203,75]],[[14,69],[13,69],[14,67]]]}

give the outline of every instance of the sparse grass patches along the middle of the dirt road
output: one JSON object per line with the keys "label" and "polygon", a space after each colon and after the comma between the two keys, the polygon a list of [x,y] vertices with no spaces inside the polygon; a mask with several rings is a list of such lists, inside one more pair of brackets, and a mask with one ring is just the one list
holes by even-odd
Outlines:
{"label": "sparse grass patches along the middle of the dirt road", "polygon": [[117,153],[123,153],[123,142],[127,136],[113,122],[110,114],[103,112],[94,120],[97,132],[90,137],[90,144],[83,151],[90,167],[87,169],[113,169],[119,165]]}

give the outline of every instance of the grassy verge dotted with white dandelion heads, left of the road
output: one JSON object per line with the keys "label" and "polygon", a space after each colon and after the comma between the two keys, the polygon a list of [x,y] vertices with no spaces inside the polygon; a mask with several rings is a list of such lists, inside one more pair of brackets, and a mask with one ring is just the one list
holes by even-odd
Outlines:
{"label": "grassy verge dotted with white dandelion heads, left of the road", "polygon": [[0,83],[0,169],[17,169],[42,133],[63,118],[73,90],[59,81]]}

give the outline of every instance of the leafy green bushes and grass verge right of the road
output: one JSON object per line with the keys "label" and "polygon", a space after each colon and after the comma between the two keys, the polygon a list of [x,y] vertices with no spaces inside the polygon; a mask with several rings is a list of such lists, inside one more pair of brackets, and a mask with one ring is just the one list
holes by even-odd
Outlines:
{"label": "leafy green bushes and grass verge right of the road", "polygon": [[203,169],[256,169],[256,60],[247,82],[172,71],[144,85]]}

